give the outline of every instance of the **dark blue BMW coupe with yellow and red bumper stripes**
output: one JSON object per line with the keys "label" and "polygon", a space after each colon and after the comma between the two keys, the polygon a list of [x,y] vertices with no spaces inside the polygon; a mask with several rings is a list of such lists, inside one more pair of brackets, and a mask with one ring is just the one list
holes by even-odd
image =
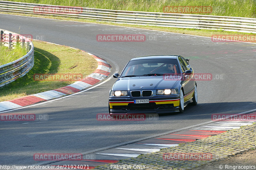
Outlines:
{"label": "dark blue BMW coupe with yellow and red bumper stripes", "polygon": [[109,92],[109,114],[183,112],[197,104],[196,81],[189,59],[180,55],[132,58]]}

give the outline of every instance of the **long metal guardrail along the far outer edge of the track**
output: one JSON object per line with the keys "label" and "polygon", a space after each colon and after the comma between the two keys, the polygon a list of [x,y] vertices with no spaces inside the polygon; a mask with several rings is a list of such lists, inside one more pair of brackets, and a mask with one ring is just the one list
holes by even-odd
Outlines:
{"label": "long metal guardrail along the far outer edge of the track", "polygon": [[98,21],[115,22],[119,24],[256,33],[255,18],[161,12],[120,11],[82,7],[73,7],[76,8],[76,10],[72,12],[51,13],[45,12],[44,10],[38,12],[38,9],[40,8],[48,9],[48,11],[50,11],[49,9],[54,10],[56,8],[68,9],[68,7],[65,6],[0,1],[0,11],[2,12],[20,12],[25,14],[40,13],[50,16],[96,19]]}

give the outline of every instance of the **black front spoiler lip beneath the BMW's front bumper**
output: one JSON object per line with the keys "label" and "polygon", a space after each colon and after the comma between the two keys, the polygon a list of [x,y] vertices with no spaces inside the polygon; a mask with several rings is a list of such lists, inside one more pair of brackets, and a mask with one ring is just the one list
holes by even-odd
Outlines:
{"label": "black front spoiler lip beneath the BMW's front bumper", "polygon": [[172,107],[166,109],[147,109],[147,110],[114,110],[110,109],[110,115],[127,115],[127,114],[141,114],[141,113],[172,113],[179,112],[179,107]]}

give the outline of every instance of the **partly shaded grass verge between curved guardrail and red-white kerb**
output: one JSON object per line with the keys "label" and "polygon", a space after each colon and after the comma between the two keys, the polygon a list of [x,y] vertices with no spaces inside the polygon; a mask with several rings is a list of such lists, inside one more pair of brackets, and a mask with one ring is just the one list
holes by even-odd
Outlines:
{"label": "partly shaded grass verge between curved guardrail and red-white kerb", "polygon": [[0,88],[0,101],[45,92],[73,83],[72,81],[34,81],[33,75],[36,73],[81,73],[84,78],[98,66],[91,55],[81,50],[35,40],[33,44],[34,67],[24,77]]}

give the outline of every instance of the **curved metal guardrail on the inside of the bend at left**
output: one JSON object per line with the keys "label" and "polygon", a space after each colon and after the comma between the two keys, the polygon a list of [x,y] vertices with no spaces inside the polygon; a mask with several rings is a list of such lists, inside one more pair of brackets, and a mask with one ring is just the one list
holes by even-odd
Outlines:
{"label": "curved metal guardrail on the inside of the bend at left", "polygon": [[[15,34],[16,37],[13,37],[13,34]],[[8,42],[3,41],[4,39],[8,40]],[[16,42],[12,42],[13,40],[16,40]],[[22,35],[6,30],[1,30],[0,43],[9,48],[15,48],[14,44],[17,45],[17,43],[21,43],[22,47],[27,48],[28,51],[27,54],[21,58],[0,66],[0,87],[3,87],[17,78],[25,76],[25,74],[32,69],[34,66],[34,45],[31,41],[26,41],[25,43],[25,39],[23,39]]]}

